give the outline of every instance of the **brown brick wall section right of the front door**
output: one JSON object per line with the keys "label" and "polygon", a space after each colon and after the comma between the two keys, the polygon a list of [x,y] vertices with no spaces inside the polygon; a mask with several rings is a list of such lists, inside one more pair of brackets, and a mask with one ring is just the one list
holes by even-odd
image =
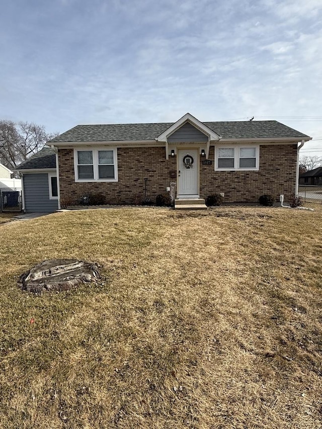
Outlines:
{"label": "brown brick wall section right of the front door", "polygon": [[[295,192],[297,144],[261,145],[259,171],[214,171],[214,165],[202,165],[200,159],[200,195],[225,193],[225,202],[258,202],[263,194],[287,201]],[[214,147],[209,159],[214,163]]]}

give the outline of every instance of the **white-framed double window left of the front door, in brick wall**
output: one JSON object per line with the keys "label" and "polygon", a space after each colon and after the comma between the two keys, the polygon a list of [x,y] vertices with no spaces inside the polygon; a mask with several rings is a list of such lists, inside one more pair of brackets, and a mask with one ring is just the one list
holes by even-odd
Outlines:
{"label": "white-framed double window left of the front door, in brick wall", "polygon": [[74,149],[75,182],[117,182],[117,149]]}

